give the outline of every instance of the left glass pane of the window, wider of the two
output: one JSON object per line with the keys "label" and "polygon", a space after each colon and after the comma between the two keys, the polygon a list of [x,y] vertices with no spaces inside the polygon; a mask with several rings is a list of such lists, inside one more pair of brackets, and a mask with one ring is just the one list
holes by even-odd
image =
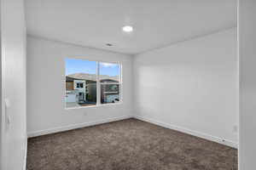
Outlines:
{"label": "left glass pane of the window, wider of the two", "polygon": [[96,61],[66,59],[67,108],[96,105]]}

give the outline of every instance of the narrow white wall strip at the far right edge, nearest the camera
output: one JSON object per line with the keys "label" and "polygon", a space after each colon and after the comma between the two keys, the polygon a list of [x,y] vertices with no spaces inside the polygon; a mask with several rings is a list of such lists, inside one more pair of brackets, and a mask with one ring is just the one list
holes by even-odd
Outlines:
{"label": "narrow white wall strip at the far right edge, nearest the camera", "polygon": [[239,3],[239,169],[256,168],[256,1]]}

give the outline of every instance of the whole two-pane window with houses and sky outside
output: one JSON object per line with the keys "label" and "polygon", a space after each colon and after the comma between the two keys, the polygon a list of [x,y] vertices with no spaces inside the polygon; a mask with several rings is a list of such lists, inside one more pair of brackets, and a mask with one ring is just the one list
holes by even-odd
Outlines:
{"label": "whole two-pane window with houses and sky outside", "polygon": [[66,59],[66,108],[118,103],[120,73],[119,64]]}

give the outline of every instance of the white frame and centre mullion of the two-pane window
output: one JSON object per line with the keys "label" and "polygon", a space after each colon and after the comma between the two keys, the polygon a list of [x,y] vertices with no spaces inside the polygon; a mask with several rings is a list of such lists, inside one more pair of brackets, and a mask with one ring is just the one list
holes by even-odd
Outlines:
{"label": "white frame and centre mullion of the two-pane window", "polygon": [[[74,58],[67,58],[67,59],[74,59]],[[82,59],[83,60],[83,59]],[[84,109],[84,108],[90,108],[90,107],[99,107],[99,106],[108,106],[108,105],[120,105],[123,104],[123,66],[120,62],[112,62],[112,61],[102,61],[102,60],[90,60],[90,59],[84,59],[88,61],[95,61],[96,62],[96,105],[88,105],[88,106],[79,106],[79,107],[67,107],[66,100],[64,99],[65,103],[65,110],[73,110],[73,109]],[[66,59],[65,59],[66,61]],[[101,81],[100,81],[100,64],[101,63],[109,63],[109,64],[115,64],[119,65],[119,102],[117,103],[107,103],[102,104],[101,103]],[[66,67],[65,67],[66,69]],[[65,95],[66,96],[66,74],[64,76],[65,80]]]}

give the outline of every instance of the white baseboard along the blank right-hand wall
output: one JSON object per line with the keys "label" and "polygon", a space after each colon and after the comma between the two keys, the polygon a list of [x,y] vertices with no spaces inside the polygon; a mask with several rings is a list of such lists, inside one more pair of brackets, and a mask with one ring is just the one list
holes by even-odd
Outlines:
{"label": "white baseboard along the blank right-hand wall", "polygon": [[153,123],[155,125],[159,125],[160,127],[166,127],[166,128],[170,128],[172,130],[176,130],[176,131],[179,131],[179,132],[182,132],[182,133],[188,133],[190,135],[199,137],[201,139],[211,140],[213,142],[217,142],[218,144],[228,145],[228,146],[230,146],[232,148],[236,148],[236,149],[238,148],[238,144],[236,142],[233,142],[233,141],[230,141],[230,140],[227,140],[227,139],[221,139],[221,138],[218,138],[216,136],[212,136],[212,135],[209,135],[209,134],[206,134],[206,133],[200,133],[200,132],[196,132],[196,131],[193,131],[193,130],[189,130],[189,129],[184,128],[184,127],[178,127],[178,126],[175,126],[175,125],[171,125],[171,124],[168,124],[166,122],[155,121],[153,119],[146,118],[146,117],[143,117],[143,116],[134,116],[134,118],[137,118],[137,119],[139,119],[141,121],[144,121],[144,122],[150,122],[150,123]]}

